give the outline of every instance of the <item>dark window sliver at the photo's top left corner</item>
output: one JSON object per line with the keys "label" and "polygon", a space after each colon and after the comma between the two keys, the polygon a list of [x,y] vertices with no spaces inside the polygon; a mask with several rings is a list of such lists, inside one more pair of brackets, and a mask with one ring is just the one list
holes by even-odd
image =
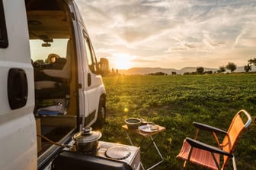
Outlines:
{"label": "dark window sliver at the photo's top left corner", "polygon": [[8,38],[5,25],[5,12],[2,0],[0,0],[0,48],[8,47]]}

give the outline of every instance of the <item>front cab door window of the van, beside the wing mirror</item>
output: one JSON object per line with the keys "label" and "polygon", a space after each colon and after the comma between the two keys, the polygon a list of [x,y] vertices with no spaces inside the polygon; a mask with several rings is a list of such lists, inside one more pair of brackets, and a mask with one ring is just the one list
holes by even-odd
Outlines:
{"label": "front cab door window of the van, beside the wing mirror", "polygon": [[85,39],[85,50],[87,54],[89,68],[92,73],[98,74],[99,73],[98,63],[94,55],[93,49],[91,47],[91,42],[89,41],[88,37],[85,35],[84,35],[84,39]]}

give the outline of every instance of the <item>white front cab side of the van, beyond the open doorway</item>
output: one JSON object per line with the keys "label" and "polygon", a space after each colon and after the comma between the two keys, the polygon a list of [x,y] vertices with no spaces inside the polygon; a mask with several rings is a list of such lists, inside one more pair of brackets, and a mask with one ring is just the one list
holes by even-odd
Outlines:
{"label": "white front cab side of the van, beyond the open doorway", "polygon": [[[78,81],[82,85],[81,89],[79,89],[79,111],[83,118],[83,126],[91,126],[91,124],[93,124],[97,119],[100,97],[102,94],[106,93],[106,91],[101,75],[94,74],[88,66],[88,52],[85,48],[85,36],[88,38],[90,43],[91,40],[88,36],[77,5],[74,4],[73,8],[75,8],[75,20],[77,22],[76,26],[78,26],[78,36],[76,36],[77,40],[79,39],[77,42],[80,45],[80,50],[78,53],[81,55],[81,57],[78,57]],[[94,53],[93,48],[91,48],[91,52]],[[88,79],[91,79],[90,85],[88,84]],[[91,122],[85,124],[85,119],[94,112],[96,113],[94,118],[91,120]]]}

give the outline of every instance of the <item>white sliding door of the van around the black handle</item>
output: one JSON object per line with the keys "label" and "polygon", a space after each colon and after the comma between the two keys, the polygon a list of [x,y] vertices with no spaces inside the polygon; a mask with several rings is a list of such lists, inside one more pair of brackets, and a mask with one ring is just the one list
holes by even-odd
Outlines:
{"label": "white sliding door of the van around the black handle", "polygon": [[[4,0],[8,47],[0,49],[0,169],[36,169],[37,133],[34,119],[34,71],[24,1]],[[27,77],[27,102],[11,109],[8,102],[8,72],[24,70]],[[16,84],[21,86],[21,84]]]}

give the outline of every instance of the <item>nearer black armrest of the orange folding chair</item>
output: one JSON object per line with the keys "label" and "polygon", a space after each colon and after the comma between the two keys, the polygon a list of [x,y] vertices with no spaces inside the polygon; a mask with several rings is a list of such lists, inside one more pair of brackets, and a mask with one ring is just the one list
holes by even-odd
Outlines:
{"label": "nearer black armrest of the orange folding chair", "polygon": [[189,137],[186,137],[186,141],[187,141],[187,143],[190,144],[190,146],[199,148],[201,150],[207,150],[207,151],[209,151],[211,153],[219,153],[219,154],[222,154],[222,155],[225,155],[225,156],[233,157],[233,155],[231,153],[227,153],[224,150],[220,150],[218,147],[210,146],[210,145],[208,145],[206,143],[202,143],[200,141],[193,140],[193,139],[191,139]]}

